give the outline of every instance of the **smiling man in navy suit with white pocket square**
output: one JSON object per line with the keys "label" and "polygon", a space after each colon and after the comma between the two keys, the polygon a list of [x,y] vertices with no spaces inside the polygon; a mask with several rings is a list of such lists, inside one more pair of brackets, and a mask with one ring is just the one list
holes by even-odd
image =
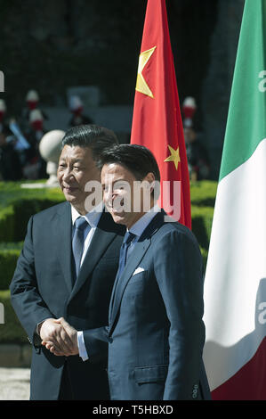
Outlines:
{"label": "smiling man in navy suit with white pocket square", "polygon": [[[87,354],[93,357],[100,342],[109,341],[112,399],[208,399],[197,240],[187,227],[168,222],[157,207],[160,175],[147,148],[113,147],[102,154],[101,166],[105,204],[127,233],[109,326],[84,332]],[[65,319],[60,322],[74,333]]]}

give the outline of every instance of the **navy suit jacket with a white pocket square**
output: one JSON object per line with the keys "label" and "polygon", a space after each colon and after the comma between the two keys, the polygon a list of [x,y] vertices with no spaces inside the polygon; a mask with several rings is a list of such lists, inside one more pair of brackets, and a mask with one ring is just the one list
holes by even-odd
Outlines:
{"label": "navy suit jacket with a white pocket square", "polygon": [[164,215],[150,222],[115,283],[109,326],[85,331],[89,354],[109,341],[112,399],[210,398],[201,254],[189,229]]}

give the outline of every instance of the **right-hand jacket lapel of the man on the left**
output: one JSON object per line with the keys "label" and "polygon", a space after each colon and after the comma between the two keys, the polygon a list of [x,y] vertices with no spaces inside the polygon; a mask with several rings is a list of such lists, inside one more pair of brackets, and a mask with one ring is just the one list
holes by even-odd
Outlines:
{"label": "right-hand jacket lapel of the man on the left", "polygon": [[85,281],[88,280],[89,276],[93,272],[93,268],[97,265],[99,259],[101,259],[103,253],[109,247],[109,244],[115,239],[117,234],[117,226],[113,222],[109,213],[104,211],[93,234],[93,240],[89,246],[82,267],[80,268],[79,275],[76,283],[74,284],[69,300],[77,294]]}

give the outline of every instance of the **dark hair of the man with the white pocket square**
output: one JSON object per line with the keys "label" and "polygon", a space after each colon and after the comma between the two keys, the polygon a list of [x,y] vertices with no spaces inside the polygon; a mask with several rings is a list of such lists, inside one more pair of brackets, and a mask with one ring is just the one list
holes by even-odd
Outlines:
{"label": "dark hair of the man with the white pocket square", "polygon": [[101,154],[98,167],[116,163],[133,173],[136,180],[142,180],[149,172],[154,174],[155,180],[160,180],[160,171],[152,152],[143,145],[120,144],[115,145]]}

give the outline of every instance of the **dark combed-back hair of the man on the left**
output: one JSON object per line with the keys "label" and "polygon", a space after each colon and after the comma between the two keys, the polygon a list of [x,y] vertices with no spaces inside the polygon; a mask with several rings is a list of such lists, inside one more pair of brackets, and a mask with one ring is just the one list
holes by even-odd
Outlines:
{"label": "dark combed-back hair of the man on the left", "polygon": [[62,148],[65,145],[70,147],[89,147],[93,153],[93,160],[97,161],[101,153],[118,144],[116,134],[108,128],[97,125],[79,125],[71,127],[62,139]]}

